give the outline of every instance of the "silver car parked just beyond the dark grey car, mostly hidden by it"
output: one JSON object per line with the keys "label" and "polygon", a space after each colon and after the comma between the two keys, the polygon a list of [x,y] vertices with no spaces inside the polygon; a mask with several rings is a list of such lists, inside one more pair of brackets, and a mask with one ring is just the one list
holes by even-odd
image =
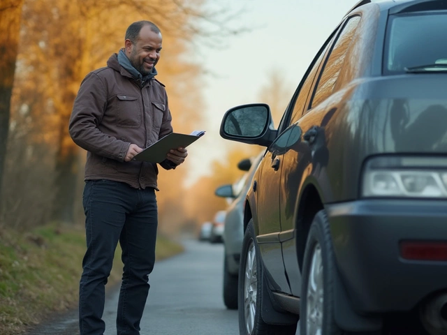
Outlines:
{"label": "silver car parked just beyond the dark grey car, mostly hidden by it", "polygon": [[[223,303],[228,309],[237,309],[237,278],[239,274],[240,251],[244,239],[244,204],[245,196],[251,186],[254,172],[258,167],[264,151],[254,158],[241,161],[237,167],[249,167],[249,171],[235,184],[226,184],[216,189],[215,194],[223,198],[235,198],[226,209],[223,228]],[[248,162],[249,165],[248,165]],[[243,164],[242,164],[243,162]],[[242,169],[240,169],[242,170]]]}

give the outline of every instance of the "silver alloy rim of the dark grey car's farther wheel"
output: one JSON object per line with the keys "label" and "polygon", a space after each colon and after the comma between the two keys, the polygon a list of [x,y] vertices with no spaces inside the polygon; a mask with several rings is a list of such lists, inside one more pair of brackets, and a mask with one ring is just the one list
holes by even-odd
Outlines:
{"label": "silver alloy rim of the dark grey car's farther wheel", "polygon": [[256,316],[256,297],[258,295],[258,279],[256,267],[256,250],[254,242],[251,241],[247,251],[247,262],[244,274],[244,315],[247,334],[251,334],[254,328]]}

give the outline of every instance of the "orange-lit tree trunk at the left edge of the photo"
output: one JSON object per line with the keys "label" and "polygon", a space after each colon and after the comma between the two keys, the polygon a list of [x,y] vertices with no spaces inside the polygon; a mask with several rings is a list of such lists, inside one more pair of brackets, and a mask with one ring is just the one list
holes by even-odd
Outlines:
{"label": "orange-lit tree trunk at the left edge of the photo", "polygon": [[0,194],[23,0],[0,0]]}

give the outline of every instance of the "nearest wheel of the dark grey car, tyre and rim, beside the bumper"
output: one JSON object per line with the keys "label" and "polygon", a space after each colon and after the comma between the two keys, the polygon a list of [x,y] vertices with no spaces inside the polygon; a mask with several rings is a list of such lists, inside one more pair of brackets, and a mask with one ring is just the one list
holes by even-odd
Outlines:
{"label": "nearest wheel of the dark grey car, tyre and rim, beside the bumper", "polygon": [[[318,211],[312,221],[302,267],[300,334],[343,334],[334,320],[335,261],[328,218]],[[309,285],[311,281],[314,285]]]}

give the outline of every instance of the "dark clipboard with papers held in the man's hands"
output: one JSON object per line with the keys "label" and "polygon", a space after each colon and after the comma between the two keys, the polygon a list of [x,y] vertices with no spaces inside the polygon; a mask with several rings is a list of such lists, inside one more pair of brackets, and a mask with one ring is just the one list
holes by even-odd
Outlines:
{"label": "dark clipboard with papers held in the man's hands", "polygon": [[135,161],[145,161],[150,163],[161,163],[166,159],[166,155],[170,149],[179,147],[186,148],[189,144],[196,142],[205,131],[193,131],[191,134],[170,133],[154,144],[149,145],[146,149],[135,155]]}

